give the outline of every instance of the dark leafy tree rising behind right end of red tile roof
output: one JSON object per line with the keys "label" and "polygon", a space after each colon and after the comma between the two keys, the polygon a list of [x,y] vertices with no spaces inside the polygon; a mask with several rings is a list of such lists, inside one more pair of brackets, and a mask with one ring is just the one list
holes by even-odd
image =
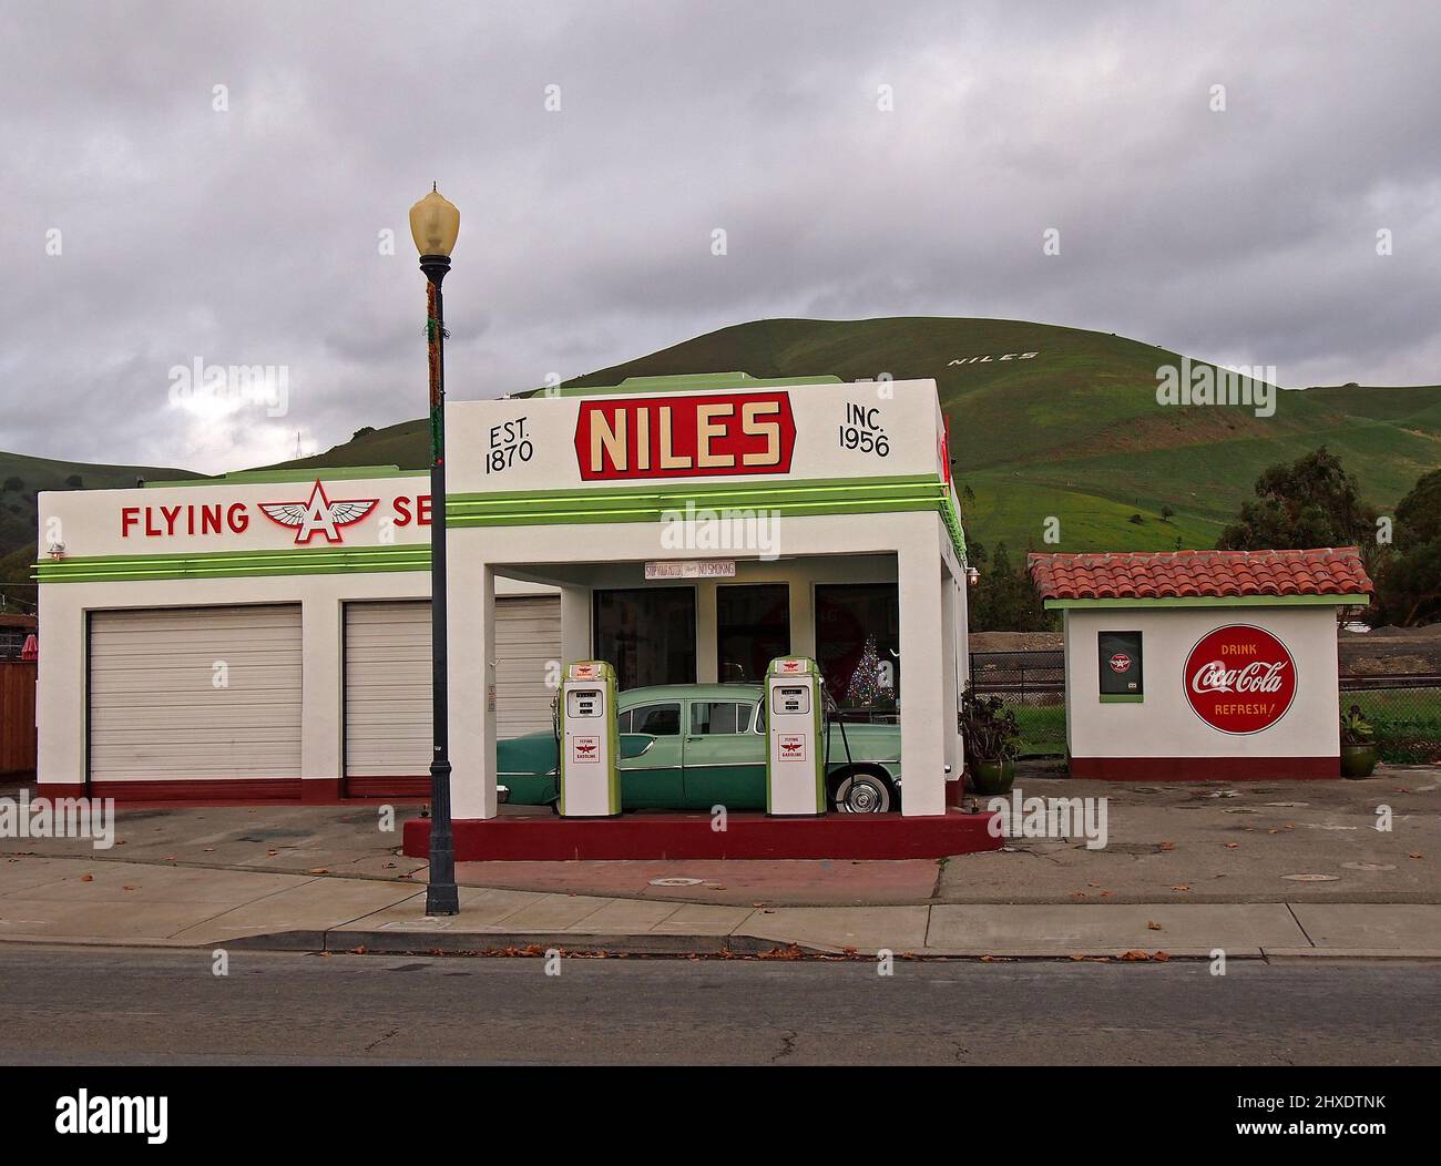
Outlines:
{"label": "dark leafy tree rising behind right end of red tile roof", "polygon": [[1376,516],[1362,503],[1356,476],[1324,445],[1290,466],[1272,466],[1257,479],[1255,491],[1221,532],[1219,551],[1357,545],[1368,561],[1373,555]]}

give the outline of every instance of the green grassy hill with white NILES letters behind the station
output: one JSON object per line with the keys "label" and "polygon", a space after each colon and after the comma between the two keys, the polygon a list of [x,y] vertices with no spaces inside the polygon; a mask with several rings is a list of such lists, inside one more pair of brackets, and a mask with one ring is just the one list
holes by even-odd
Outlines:
{"label": "green grassy hill with white NILES letters behind the station", "polygon": [[[999,359],[1023,352],[1036,356]],[[994,359],[951,363],[976,356]],[[1342,457],[1382,512],[1441,466],[1438,385],[1284,392],[1271,418],[1242,406],[1161,408],[1156,368],[1179,360],[1138,340],[1017,320],[758,320],[568,383],[732,370],[934,378],[950,418],[957,481],[976,496],[965,506],[970,533],[1013,551],[1157,551],[1177,539],[1187,548],[1213,546],[1267,466],[1321,444]],[[425,424],[408,421],[282,464],[424,467],[425,447]],[[107,484],[91,481],[101,471],[131,480],[182,473],[65,467],[86,484]],[[0,496],[0,510],[7,500]],[[1170,520],[1161,519],[1163,506],[1176,512]],[[1131,522],[1136,515],[1138,523]],[[1056,545],[1042,540],[1049,516],[1061,519]],[[0,528],[0,552],[9,533]],[[33,525],[24,538],[33,538]]]}

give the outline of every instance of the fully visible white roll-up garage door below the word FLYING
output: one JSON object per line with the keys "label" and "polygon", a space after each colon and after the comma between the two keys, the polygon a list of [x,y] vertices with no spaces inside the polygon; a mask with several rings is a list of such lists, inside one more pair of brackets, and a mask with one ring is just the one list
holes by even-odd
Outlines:
{"label": "fully visible white roll-up garage door below the word FLYING", "polygon": [[300,604],[91,613],[91,780],[298,778],[300,669]]}

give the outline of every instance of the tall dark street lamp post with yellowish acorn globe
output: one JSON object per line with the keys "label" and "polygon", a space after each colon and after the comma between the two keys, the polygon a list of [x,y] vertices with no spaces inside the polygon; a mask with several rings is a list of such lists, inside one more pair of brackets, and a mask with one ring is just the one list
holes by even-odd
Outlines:
{"label": "tall dark street lamp post with yellowish acorn globe", "polygon": [[431,879],[427,915],[460,912],[450,810],[450,716],[445,659],[445,308],[441,281],[460,235],[460,210],[431,186],[411,208],[411,235],[425,272],[425,337],[431,375]]}

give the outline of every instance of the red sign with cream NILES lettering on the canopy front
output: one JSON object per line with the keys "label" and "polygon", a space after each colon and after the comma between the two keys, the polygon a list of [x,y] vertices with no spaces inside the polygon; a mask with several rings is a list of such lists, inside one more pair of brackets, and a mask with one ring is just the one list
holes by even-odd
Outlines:
{"label": "red sign with cream NILES lettering on the canopy front", "polygon": [[785,474],[794,450],[784,392],[594,398],[575,422],[582,481]]}

